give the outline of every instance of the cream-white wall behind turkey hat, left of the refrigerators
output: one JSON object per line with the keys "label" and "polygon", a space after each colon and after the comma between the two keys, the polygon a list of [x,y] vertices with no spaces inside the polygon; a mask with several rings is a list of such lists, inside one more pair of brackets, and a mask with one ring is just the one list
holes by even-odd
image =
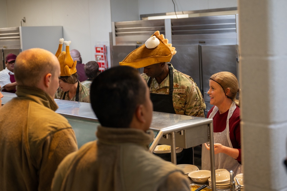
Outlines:
{"label": "cream-white wall behind turkey hat, left of the refrigerators", "polygon": [[[64,39],[72,41],[70,49],[79,50],[83,63],[95,60],[96,42],[109,42],[110,1],[0,0],[0,5],[5,4],[0,6],[0,28],[21,26],[23,17],[26,17],[23,26],[63,26]],[[6,23],[2,14],[7,15]],[[55,53],[58,42],[55,39]]]}

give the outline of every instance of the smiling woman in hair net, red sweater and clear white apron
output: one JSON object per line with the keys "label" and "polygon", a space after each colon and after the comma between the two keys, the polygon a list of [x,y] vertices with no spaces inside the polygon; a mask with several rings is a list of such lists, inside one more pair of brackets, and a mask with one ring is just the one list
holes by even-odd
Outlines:
{"label": "smiling woman in hair net, red sweater and clear white apron", "polygon": [[[230,72],[218,72],[209,79],[208,94],[214,105],[207,114],[213,119],[215,169],[243,173],[241,165],[240,109],[236,99],[238,80]],[[210,145],[202,146],[202,169],[210,170]]]}

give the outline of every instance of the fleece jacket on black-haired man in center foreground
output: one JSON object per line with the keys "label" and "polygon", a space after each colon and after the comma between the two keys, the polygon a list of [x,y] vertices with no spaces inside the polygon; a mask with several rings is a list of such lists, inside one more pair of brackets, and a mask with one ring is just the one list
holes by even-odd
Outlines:
{"label": "fleece jacket on black-haired man in center foreground", "polygon": [[52,191],[189,191],[176,165],[148,152],[153,140],[133,128],[98,126],[98,141],[83,145],[59,165]]}

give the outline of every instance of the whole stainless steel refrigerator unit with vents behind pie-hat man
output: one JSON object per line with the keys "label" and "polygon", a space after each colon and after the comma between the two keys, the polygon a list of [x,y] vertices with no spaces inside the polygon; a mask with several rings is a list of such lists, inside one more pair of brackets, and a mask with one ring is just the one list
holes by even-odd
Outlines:
{"label": "whole stainless steel refrigerator unit with vents behind pie-hat man", "polygon": [[171,60],[174,68],[191,76],[200,88],[206,116],[212,107],[207,94],[210,76],[220,71],[238,76],[237,20],[237,15],[222,15],[115,22],[110,40],[112,66],[159,30],[177,51]]}

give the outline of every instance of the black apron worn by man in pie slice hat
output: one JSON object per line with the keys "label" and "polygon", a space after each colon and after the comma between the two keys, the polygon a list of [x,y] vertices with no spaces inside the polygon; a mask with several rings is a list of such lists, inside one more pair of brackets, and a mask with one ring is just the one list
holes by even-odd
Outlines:
{"label": "black apron worn by man in pie slice hat", "polygon": [[[152,100],[152,104],[154,105],[154,111],[164,112],[164,113],[172,113],[175,114],[173,101],[172,101],[172,93],[173,93],[173,72],[172,67],[169,67],[169,94],[154,94],[150,93],[150,99]],[[148,80],[148,87],[150,87],[150,78]]]}

